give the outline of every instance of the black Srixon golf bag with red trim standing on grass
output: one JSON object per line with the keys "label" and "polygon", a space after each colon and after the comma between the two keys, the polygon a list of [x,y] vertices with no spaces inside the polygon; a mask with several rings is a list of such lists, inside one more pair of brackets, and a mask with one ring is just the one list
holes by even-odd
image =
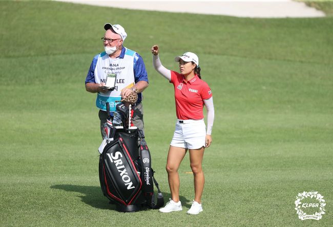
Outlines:
{"label": "black Srixon golf bag with red trim standing on grass", "polygon": [[[99,157],[99,181],[103,194],[112,203],[116,203],[117,210],[121,212],[134,212],[141,207],[162,207],[163,196],[154,178],[151,155],[143,132],[136,127],[111,126],[107,133],[113,138],[103,148]],[[154,183],[158,190],[157,201],[154,196]]]}

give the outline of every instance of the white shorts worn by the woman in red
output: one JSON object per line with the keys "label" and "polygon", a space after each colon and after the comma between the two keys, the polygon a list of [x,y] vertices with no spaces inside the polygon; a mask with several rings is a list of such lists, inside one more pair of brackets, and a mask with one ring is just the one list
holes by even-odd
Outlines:
{"label": "white shorts worn by the woman in red", "polygon": [[206,126],[201,120],[177,120],[174,137],[170,143],[174,147],[199,149],[206,143]]}

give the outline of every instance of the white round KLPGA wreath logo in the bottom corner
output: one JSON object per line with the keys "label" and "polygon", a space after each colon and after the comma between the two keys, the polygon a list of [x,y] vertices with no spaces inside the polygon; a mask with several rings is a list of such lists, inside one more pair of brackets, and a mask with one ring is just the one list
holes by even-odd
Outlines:
{"label": "white round KLPGA wreath logo in the bottom corner", "polygon": [[298,218],[301,220],[321,219],[325,214],[326,205],[323,198],[324,196],[315,191],[298,193],[295,201]]}

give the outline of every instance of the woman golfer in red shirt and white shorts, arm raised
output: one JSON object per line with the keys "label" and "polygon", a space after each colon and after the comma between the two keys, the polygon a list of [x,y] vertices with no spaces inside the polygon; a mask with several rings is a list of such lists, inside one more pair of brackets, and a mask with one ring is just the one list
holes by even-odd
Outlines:
{"label": "woman golfer in red shirt and white shorts, arm raised", "polygon": [[[201,167],[205,147],[212,143],[212,127],[214,122],[214,104],[212,91],[206,82],[201,80],[198,56],[186,52],[175,58],[179,62],[180,73],[165,69],[159,59],[159,48],[152,47],[153,65],[155,70],[173,83],[175,87],[177,123],[172,138],[166,171],[171,191],[170,202],[162,213],[181,211],[179,201],[178,168],[186,151],[189,150],[191,169],[194,176],[194,200],[188,214],[199,214],[202,211],[201,195],[204,185],[204,175]],[[207,108],[207,130],[203,121],[203,105]]]}

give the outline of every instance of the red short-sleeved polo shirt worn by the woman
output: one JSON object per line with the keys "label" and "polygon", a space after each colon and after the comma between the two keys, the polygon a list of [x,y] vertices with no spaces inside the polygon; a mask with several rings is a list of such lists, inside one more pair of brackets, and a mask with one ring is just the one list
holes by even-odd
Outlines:
{"label": "red short-sleeved polo shirt worn by the woman", "polygon": [[197,75],[186,81],[183,75],[171,71],[171,81],[175,87],[176,115],[180,120],[203,119],[203,100],[212,97],[211,88]]}

